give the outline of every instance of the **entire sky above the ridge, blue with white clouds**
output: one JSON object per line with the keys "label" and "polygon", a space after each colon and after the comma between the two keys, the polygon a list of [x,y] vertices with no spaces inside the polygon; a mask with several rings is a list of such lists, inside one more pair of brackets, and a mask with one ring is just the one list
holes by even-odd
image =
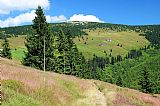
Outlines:
{"label": "entire sky above the ridge, blue with white clouds", "polygon": [[0,27],[31,24],[38,5],[50,23],[160,24],[160,0],[0,0]]}

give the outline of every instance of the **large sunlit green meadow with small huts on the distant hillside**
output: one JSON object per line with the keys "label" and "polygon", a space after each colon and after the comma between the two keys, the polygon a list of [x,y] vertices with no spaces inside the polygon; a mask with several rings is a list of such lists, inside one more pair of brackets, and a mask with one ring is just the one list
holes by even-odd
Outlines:
{"label": "large sunlit green meadow with small huts on the distant hillside", "polygon": [[144,36],[136,32],[116,32],[104,29],[86,30],[87,36],[74,39],[78,49],[86,58],[93,55],[106,57],[121,55],[125,57],[129,50],[140,49],[149,45]]}

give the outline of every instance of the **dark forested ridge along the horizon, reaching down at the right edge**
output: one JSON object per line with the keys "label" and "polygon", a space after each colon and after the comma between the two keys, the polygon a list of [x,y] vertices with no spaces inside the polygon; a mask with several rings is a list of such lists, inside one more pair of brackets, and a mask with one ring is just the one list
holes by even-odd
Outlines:
{"label": "dark forested ridge along the horizon, reaching down at the right edge", "polygon": [[[160,25],[121,25],[111,23],[96,23],[96,22],[64,22],[64,23],[52,23],[50,24],[53,35],[62,29],[64,33],[67,33],[66,28],[70,29],[72,36],[87,35],[84,30],[96,30],[103,29],[104,31],[114,32],[137,32],[140,35],[145,36],[154,46],[159,48],[160,45]],[[6,36],[17,36],[17,35],[30,35],[32,34],[31,25],[17,26],[0,28],[0,32],[3,32]],[[2,35],[0,34],[0,39]]]}

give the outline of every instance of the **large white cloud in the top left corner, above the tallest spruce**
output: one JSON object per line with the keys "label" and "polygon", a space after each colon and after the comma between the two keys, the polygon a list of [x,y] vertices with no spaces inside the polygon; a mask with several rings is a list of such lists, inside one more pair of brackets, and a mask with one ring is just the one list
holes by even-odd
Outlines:
{"label": "large white cloud in the top left corner, above the tallest spruce", "polygon": [[38,5],[49,8],[49,0],[0,0],[0,14],[9,14],[11,11],[35,9]]}

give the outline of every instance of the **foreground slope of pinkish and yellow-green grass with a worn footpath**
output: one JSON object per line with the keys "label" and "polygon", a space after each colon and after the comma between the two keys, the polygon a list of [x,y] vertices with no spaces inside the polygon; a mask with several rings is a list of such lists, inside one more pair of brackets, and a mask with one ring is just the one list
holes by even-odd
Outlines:
{"label": "foreground slope of pinkish and yellow-green grass with a worn footpath", "polygon": [[[97,80],[84,80],[0,58],[2,106],[158,106],[160,98]],[[46,85],[44,86],[44,77]]]}

